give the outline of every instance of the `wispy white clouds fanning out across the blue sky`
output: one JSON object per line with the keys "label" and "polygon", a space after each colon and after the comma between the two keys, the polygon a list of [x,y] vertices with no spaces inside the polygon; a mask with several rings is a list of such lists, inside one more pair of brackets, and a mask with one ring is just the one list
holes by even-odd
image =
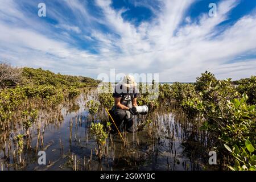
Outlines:
{"label": "wispy white clouds fanning out across the blue sky", "polygon": [[[65,1],[76,20],[70,22],[58,10],[52,10],[49,15],[59,22],[57,28],[81,34],[81,40],[93,42],[98,53],[90,53],[77,48],[67,32],[52,36],[49,34],[52,29],[46,27],[44,35],[39,28],[20,26],[18,20],[27,21],[30,26],[34,22],[35,27],[45,24],[25,17],[14,1],[8,1],[0,7],[0,58],[16,65],[94,77],[101,72],[109,73],[110,68],[124,73],[159,73],[161,81],[195,81],[205,70],[218,78],[238,79],[255,74],[255,59],[233,63],[230,60],[255,52],[256,16],[243,16],[220,34],[218,24],[229,18],[238,1],[221,1],[216,17],[202,14],[196,22],[185,16],[193,2],[160,1],[154,10],[155,17],[135,26],[122,18],[125,10],[114,10],[109,0],[96,1],[102,10],[101,18],[90,14],[86,3]],[[6,23],[6,19],[14,23]],[[183,20],[185,25],[181,27]],[[110,31],[98,28],[97,23]]]}

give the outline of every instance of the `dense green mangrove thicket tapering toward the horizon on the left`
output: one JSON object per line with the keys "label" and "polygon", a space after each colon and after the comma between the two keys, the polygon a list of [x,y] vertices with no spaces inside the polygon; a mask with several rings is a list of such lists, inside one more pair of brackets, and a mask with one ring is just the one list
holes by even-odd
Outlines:
{"label": "dense green mangrove thicket tapering toward the horizon on the left", "polygon": [[[84,76],[55,74],[41,68],[14,68],[0,64],[0,131],[12,118],[32,117],[41,109],[52,109],[75,100],[100,81]],[[25,122],[26,123],[26,122]],[[29,127],[25,127],[26,130]]]}

